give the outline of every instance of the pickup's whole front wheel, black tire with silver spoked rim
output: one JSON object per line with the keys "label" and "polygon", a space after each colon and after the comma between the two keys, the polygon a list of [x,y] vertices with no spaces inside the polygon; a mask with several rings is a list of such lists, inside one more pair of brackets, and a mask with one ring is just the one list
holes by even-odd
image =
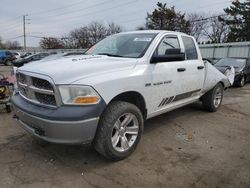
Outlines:
{"label": "pickup's whole front wheel, black tire with silver spoked rim", "polygon": [[143,125],[143,116],[137,106],[123,101],[111,102],[100,118],[94,148],[109,160],[125,159],[138,145]]}

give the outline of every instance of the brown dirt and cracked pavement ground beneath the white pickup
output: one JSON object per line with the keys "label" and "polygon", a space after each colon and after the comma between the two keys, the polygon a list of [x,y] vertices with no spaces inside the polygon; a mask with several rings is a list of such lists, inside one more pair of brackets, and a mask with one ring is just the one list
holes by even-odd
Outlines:
{"label": "brown dirt and cracked pavement ground beneath the white pickup", "polygon": [[[9,69],[0,66],[0,72]],[[128,159],[38,143],[0,111],[0,187],[250,187],[250,84],[217,113],[193,104],[146,122]]]}

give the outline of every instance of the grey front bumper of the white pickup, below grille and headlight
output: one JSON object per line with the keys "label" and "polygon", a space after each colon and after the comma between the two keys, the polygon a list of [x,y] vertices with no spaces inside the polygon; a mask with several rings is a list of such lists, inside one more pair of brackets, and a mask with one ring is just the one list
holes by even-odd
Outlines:
{"label": "grey front bumper of the white pickup, below grille and headlight", "polygon": [[[87,113],[90,109],[84,112],[86,107],[48,109],[26,101],[19,94],[12,97],[12,104],[17,122],[23,129],[42,140],[61,144],[90,143],[105,107],[102,103],[89,106],[92,109],[90,114]],[[83,112],[79,113],[80,110]]]}

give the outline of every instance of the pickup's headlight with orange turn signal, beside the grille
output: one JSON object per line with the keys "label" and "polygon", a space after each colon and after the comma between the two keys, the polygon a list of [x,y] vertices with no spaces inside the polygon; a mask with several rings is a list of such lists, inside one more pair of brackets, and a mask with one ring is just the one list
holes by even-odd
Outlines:
{"label": "pickup's headlight with orange turn signal, beside the grille", "polygon": [[89,86],[61,85],[59,91],[63,104],[90,105],[97,104],[101,100],[96,91]]}

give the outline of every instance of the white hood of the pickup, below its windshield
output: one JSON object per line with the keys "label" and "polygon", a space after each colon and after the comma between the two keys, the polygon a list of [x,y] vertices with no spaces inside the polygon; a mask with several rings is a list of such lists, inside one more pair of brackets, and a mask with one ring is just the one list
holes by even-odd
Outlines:
{"label": "white hood of the pickup, below its windshield", "polygon": [[31,72],[49,76],[55,84],[70,84],[86,77],[132,69],[137,59],[104,55],[64,57],[53,61],[32,62],[19,68],[19,72]]}

